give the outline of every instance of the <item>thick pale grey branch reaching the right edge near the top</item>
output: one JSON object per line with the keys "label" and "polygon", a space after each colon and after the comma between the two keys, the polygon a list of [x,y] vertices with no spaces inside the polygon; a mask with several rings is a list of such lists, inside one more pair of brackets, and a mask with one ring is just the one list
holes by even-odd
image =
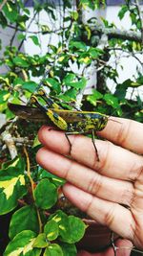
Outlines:
{"label": "thick pale grey branch reaching the right edge near the top", "polygon": [[[88,24],[90,26],[90,24]],[[130,40],[130,41],[136,41],[136,42],[142,42],[141,33],[134,32],[132,30],[129,31],[121,31],[119,29],[109,29],[105,28],[101,24],[96,24],[90,26],[92,30],[92,35],[97,35],[97,33],[108,35],[109,38],[120,38],[123,40]]]}

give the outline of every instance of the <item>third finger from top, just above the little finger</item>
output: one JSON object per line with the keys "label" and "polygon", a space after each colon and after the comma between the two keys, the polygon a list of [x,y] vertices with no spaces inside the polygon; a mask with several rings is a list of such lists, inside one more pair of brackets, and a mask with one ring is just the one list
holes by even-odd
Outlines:
{"label": "third finger from top, just above the little finger", "polygon": [[46,148],[38,151],[36,160],[52,174],[67,179],[74,186],[98,198],[110,199],[129,206],[133,201],[133,183],[129,181],[99,175],[92,169]]}

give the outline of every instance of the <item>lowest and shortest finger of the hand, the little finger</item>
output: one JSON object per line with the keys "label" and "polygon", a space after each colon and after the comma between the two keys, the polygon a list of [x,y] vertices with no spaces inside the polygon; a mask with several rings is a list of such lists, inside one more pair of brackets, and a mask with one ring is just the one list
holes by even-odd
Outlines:
{"label": "lowest and shortest finger of the hand, the little finger", "polygon": [[[81,211],[86,212],[93,220],[107,225],[119,236],[133,241],[135,223],[131,212],[123,206],[92,195],[66,184],[63,193]],[[125,228],[126,227],[126,228]]]}

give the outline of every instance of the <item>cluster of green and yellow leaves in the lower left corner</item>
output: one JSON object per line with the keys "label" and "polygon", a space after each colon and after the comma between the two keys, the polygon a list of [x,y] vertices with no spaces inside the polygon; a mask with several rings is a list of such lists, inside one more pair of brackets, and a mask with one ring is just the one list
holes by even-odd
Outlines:
{"label": "cluster of green and yellow leaves in the lower left corner", "polygon": [[[42,251],[45,256],[76,255],[74,243],[84,235],[84,222],[60,210],[49,218],[45,214],[55,204],[57,187],[62,181],[52,177],[51,182],[49,175],[45,175],[45,178],[37,180],[37,185],[31,186],[34,189],[32,194],[28,194],[31,178],[25,169],[24,160],[16,157],[4,163],[0,172],[0,214],[15,209],[21,198],[25,202],[15,210],[10,220],[11,241],[4,255],[41,255]],[[30,197],[33,197],[31,203]]]}

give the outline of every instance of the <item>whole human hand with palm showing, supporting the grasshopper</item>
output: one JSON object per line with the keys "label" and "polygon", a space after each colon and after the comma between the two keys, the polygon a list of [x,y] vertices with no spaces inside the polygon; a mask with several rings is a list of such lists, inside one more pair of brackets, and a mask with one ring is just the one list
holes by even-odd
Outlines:
{"label": "whole human hand with palm showing, supporting the grasshopper", "polygon": [[[95,140],[99,161],[92,140],[83,135],[69,136],[67,157],[64,132],[44,126],[37,163],[67,180],[63,193],[74,205],[123,238],[116,246],[132,248],[133,243],[143,250],[143,124],[112,117],[98,135],[106,139]],[[112,256],[113,251],[78,253],[90,255]],[[130,255],[130,249],[117,255]]]}

